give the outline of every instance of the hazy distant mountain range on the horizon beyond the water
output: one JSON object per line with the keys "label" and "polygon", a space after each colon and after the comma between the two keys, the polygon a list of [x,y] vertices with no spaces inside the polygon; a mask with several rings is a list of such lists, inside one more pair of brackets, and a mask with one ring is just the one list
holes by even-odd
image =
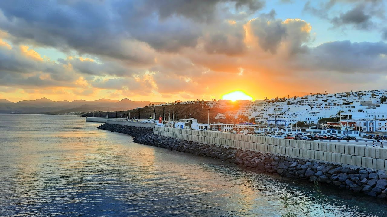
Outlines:
{"label": "hazy distant mountain range on the horizon beyond the water", "polygon": [[123,111],[137,107],[144,107],[149,104],[160,104],[164,102],[132,101],[128,98],[123,100],[99,99],[94,101],[74,100],[74,101],[52,101],[48,98],[37,100],[23,100],[20,102],[10,102],[0,99],[0,113],[29,113],[29,114],[70,114],[76,112],[98,111]]}

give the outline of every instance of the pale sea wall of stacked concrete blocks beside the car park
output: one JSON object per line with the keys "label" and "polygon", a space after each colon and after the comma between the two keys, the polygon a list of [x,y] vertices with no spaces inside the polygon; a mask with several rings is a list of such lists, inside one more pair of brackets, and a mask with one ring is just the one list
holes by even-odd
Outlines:
{"label": "pale sea wall of stacked concrete blocks beside the car park", "polygon": [[277,139],[264,136],[155,127],[154,134],[197,142],[263,151],[294,158],[328,161],[345,165],[387,170],[387,148],[334,144],[328,142]]}

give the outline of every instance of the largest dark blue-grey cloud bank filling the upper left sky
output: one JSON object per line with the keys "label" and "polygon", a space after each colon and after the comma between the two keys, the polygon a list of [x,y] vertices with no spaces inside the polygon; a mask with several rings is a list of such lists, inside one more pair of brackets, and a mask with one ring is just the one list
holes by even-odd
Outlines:
{"label": "largest dark blue-grey cloud bank filling the upper left sky", "polygon": [[255,0],[1,1],[0,25],[15,36],[14,42],[30,40],[63,51],[149,64],[151,51],[132,55],[142,48],[140,42],[167,52],[194,47],[201,22],[211,22],[220,3],[252,12],[264,5]]}

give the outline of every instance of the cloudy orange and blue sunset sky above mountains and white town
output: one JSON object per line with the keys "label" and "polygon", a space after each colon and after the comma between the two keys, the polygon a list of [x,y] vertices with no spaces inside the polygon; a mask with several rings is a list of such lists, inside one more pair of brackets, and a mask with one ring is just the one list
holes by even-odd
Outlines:
{"label": "cloudy orange and blue sunset sky above mountains and white town", "polygon": [[381,0],[0,1],[0,99],[387,89]]}

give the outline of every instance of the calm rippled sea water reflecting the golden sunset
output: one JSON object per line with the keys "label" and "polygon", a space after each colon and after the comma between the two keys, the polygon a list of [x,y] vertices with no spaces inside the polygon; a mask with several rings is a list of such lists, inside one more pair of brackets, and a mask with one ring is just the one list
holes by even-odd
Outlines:
{"label": "calm rippled sea water reflecting the golden sunset", "polygon": [[[83,117],[0,114],[0,216],[281,216],[313,186],[132,142]],[[322,188],[342,216],[387,216],[385,200]],[[312,206],[312,216],[322,216]],[[333,215],[329,215],[333,216]]]}

